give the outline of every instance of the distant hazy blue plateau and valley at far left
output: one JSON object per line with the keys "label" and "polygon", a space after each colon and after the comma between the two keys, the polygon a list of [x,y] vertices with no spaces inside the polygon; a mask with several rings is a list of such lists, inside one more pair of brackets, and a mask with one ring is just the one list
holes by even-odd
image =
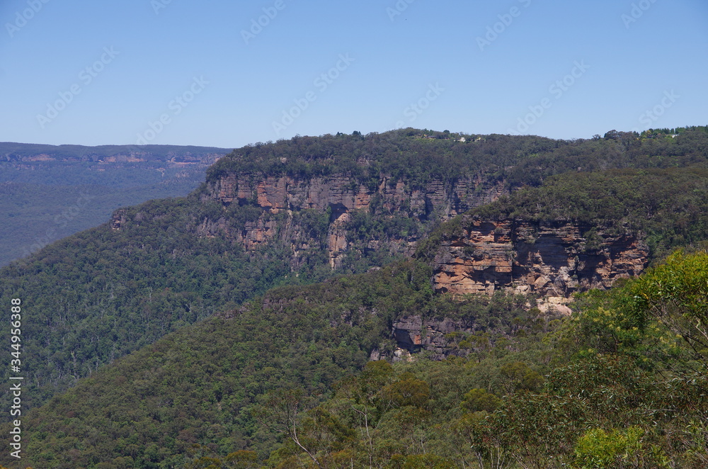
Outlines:
{"label": "distant hazy blue plateau and valley at far left", "polygon": [[185,196],[229,151],[0,142],[0,266],[100,225],[121,206]]}

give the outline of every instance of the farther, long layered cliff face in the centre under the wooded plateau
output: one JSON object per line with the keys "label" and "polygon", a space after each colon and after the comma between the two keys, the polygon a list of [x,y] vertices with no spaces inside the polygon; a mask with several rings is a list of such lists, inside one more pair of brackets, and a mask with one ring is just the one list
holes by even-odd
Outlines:
{"label": "farther, long layered cliff face in the centre under the wooded plateau", "polygon": [[[326,234],[326,250],[332,268],[341,266],[343,256],[352,250],[412,254],[419,237],[426,234],[423,225],[432,220],[447,220],[470,208],[496,200],[503,193],[503,182],[483,185],[479,176],[457,181],[430,181],[413,187],[401,179],[382,176],[378,183],[362,185],[347,175],[335,174],[311,179],[290,176],[258,176],[250,173],[229,174],[207,182],[202,201],[216,200],[224,208],[232,204],[255,205],[263,210],[256,221],[246,222],[243,230],[230,230],[226,218],[207,219],[198,232],[202,236],[220,234],[241,243],[245,249],[261,244],[285,242],[299,256],[312,243],[307,230],[295,219],[295,213],[313,209],[331,214]],[[377,220],[407,217],[421,230],[416,234],[383,233],[372,235],[365,244],[352,246],[350,216],[355,210],[375,213]],[[280,215],[280,217],[273,217]]]}

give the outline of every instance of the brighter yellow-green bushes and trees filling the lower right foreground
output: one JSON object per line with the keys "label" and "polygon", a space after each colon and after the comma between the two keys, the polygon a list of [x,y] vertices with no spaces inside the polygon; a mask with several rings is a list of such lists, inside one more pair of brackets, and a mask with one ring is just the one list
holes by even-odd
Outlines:
{"label": "brighter yellow-green bushes and trees filling the lower right foreground", "polygon": [[[708,254],[677,253],[564,321],[542,318],[467,359],[367,363],[318,405],[270,393],[269,468],[704,468]],[[245,468],[256,453],[188,468]],[[249,465],[250,464],[250,465]]]}

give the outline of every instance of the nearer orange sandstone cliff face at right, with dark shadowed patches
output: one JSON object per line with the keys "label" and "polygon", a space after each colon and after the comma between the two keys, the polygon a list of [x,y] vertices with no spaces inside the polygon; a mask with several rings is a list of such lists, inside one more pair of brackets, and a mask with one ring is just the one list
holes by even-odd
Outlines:
{"label": "nearer orange sandstone cliff face at right, with dark shadowed patches", "polygon": [[644,270],[648,249],[630,235],[571,222],[485,221],[464,216],[435,256],[433,286],[464,295],[508,290],[568,298]]}

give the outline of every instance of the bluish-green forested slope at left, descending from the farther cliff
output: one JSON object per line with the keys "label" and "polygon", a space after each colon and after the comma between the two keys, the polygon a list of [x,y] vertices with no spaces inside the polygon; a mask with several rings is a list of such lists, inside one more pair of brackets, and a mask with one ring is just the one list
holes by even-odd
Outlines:
{"label": "bluish-green forested slope at left, descending from the farther cliff", "polygon": [[22,298],[28,310],[28,406],[217,306],[286,281],[290,263],[278,247],[253,255],[185,230],[210,209],[219,210],[184,198],[145,203],[131,209],[139,225],[101,225],[4,269],[3,298]]}

